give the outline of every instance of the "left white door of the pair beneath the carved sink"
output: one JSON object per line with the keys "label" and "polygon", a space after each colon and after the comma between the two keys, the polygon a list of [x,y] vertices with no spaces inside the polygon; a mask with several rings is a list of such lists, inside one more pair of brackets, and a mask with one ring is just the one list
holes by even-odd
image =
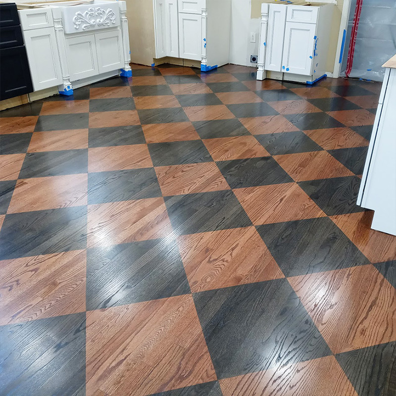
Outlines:
{"label": "left white door of the pair beneath the carved sink", "polygon": [[70,81],[99,74],[95,36],[93,34],[66,39]]}

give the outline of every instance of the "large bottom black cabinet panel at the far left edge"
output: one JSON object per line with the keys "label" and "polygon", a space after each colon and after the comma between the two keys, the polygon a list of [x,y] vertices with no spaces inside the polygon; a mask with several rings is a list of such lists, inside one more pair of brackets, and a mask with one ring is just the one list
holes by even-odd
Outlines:
{"label": "large bottom black cabinet panel at the far left edge", "polygon": [[0,49],[0,100],[33,92],[24,46]]}

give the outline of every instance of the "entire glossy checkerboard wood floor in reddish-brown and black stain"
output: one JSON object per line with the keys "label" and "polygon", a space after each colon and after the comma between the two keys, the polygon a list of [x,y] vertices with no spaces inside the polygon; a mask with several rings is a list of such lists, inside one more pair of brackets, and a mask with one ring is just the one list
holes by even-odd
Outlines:
{"label": "entire glossy checkerboard wood floor in reddish-brown and black stain", "polygon": [[396,395],[381,84],[132,69],[0,113],[1,395]]}

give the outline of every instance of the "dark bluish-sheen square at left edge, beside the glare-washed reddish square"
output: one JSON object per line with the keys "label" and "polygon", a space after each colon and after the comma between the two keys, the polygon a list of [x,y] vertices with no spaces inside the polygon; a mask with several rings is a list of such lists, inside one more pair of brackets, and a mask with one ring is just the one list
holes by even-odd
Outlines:
{"label": "dark bluish-sheen square at left edge, beside the glare-washed reddish square", "polygon": [[86,247],[86,206],[11,213],[1,227],[1,260]]}

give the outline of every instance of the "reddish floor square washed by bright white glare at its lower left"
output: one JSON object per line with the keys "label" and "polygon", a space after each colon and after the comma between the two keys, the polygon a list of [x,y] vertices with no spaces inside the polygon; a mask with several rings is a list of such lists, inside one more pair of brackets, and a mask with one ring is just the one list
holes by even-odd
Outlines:
{"label": "reddish floor square washed by bright white glare at its lower left", "polygon": [[164,238],[171,233],[163,198],[88,206],[88,247]]}

